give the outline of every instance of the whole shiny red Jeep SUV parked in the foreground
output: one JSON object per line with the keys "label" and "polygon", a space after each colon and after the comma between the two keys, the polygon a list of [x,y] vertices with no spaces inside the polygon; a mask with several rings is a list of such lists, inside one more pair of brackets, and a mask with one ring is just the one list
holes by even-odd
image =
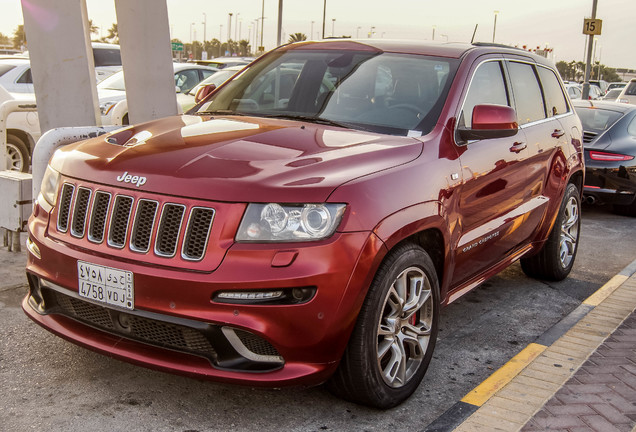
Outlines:
{"label": "whole shiny red Jeep SUV parked in the foreground", "polygon": [[581,129],[520,49],[284,45],[192,114],[53,155],[23,308],[136,364],[392,407],[441,307],[517,260],[567,277]]}

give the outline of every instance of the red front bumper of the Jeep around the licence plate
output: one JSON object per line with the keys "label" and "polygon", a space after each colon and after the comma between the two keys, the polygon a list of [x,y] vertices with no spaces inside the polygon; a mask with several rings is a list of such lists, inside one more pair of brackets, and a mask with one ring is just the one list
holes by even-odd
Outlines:
{"label": "red front bumper of the Jeep around the licence plate", "polygon": [[[315,385],[335,370],[381,259],[370,233],[336,233],[315,244],[234,244],[214,270],[184,270],[106,255],[47,234],[43,212],[29,223],[30,291],[25,313],[94,351],[154,369],[249,385]],[[297,247],[296,247],[297,246]],[[116,252],[115,252],[116,253]],[[290,257],[281,265],[280,257]],[[78,295],[77,261],[132,271],[135,309]],[[215,301],[221,291],[309,287],[302,303]]]}

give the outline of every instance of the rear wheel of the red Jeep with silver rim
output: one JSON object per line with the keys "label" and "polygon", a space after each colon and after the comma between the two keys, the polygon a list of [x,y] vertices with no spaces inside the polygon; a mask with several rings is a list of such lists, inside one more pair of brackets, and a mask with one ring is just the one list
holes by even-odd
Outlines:
{"label": "rear wheel of the red Jeep with silver rim", "polygon": [[524,273],[537,279],[560,281],[567,277],[574,265],[581,228],[581,195],[570,183],[559,208],[548,241],[541,251],[521,259]]}

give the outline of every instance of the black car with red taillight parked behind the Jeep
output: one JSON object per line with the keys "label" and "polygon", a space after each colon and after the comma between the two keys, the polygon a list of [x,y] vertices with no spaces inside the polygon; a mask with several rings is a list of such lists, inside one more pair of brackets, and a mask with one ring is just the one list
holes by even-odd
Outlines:
{"label": "black car with red taillight parked behind the Jeep", "polygon": [[583,124],[586,202],[636,216],[636,105],[572,103]]}

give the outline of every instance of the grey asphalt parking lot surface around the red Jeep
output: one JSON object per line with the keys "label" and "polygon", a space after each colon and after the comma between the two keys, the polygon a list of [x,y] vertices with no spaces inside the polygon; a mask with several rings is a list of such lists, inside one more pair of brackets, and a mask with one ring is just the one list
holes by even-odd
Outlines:
{"label": "grey asphalt parking lot surface around the red Jeep", "polygon": [[[322,387],[263,390],[164,374],[79,348],[23,314],[25,252],[0,250],[4,430],[423,430],[636,257],[633,219],[584,207],[573,273],[526,278],[515,264],[442,313],[437,349],[407,402],[377,411]],[[23,238],[24,241],[24,238]]]}

